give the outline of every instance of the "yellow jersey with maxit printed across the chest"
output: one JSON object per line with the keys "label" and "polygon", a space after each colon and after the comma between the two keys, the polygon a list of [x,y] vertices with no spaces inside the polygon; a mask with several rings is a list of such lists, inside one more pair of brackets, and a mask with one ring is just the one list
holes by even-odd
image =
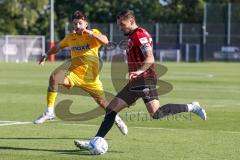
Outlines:
{"label": "yellow jersey with maxit printed across the chest", "polygon": [[[101,34],[97,29],[92,31]],[[59,43],[60,48],[68,47],[71,50],[69,71],[85,82],[94,82],[99,78],[98,50],[101,45],[101,42],[87,33],[83,35],[70,33]]]}

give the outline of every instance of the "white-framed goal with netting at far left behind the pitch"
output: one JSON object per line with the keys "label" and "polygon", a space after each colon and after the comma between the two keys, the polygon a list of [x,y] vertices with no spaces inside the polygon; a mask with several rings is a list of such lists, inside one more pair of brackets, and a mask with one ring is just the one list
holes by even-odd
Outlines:
{"label": "white-framed goal with netting at far left behind the pitch", "polygon": [[43,53],[45,53],[44,36],[0,37],[0,62],[36,61]]}

